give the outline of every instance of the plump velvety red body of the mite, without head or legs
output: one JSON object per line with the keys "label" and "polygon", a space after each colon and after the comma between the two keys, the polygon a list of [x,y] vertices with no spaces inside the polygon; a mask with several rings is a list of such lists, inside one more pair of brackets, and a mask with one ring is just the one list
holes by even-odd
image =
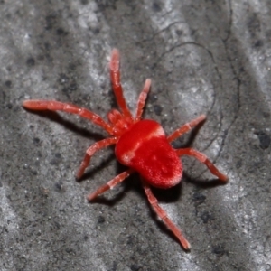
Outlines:
{"label": "plump velvety red body of the mite, without head or legs", "polygon": [[144,119],[132,126],[119,138],[115,153],[121,164],[133,168],[154,187],[167,189],[181,182],[179,155],[154,120]]}

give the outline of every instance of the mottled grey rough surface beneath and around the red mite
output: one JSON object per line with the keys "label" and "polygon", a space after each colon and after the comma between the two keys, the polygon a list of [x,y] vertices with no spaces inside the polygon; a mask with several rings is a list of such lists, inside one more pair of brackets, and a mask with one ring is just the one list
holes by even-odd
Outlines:
{"label": "mottled grey rough surface beneath and around the red mite", "polygon": [[[267,0],[0,1],[0,270],[271,270],[270,9]],[[189,253],[155,218],[136,174],[86,201],[124,170],[108,148],[75,181],[105,132],[22,107],[56,99],[106,117],[116,107],[114,47],[130,108],[151,78],[145,117],[167,134],[208,116],[174,145],[207,154],[229,183],[185,157],[182,183],[154,190]]]}

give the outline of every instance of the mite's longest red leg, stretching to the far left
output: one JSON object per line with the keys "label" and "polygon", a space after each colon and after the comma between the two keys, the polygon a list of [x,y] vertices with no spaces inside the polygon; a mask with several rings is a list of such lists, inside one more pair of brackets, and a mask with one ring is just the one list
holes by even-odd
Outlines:
{"label": "mite's longest red leg, stretching to the far left", "polygon": [[25,100],[23,101],[23,107],[31,110],[51,110],[51,111],[64,111],[67,113],[79,115],[92,121],[94,124],[104,128],[108,134],[113,135],[113,128],[107,124],[97,114],[87,110],[86,108],[80,108],[71,104],[61,103],[55,100]]}

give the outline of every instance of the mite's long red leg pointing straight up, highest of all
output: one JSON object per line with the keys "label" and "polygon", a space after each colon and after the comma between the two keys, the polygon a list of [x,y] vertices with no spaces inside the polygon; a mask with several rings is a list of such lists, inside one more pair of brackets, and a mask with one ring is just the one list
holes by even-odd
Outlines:
{"label": "mite's long red leg pointing straight up, highest of all", "polygon": [[111,53],[110,61],[110,77],[112,82],[112,87],[117,98],[117,105],[120,107],[121,111],[126,117],[132,118],[132,114],[128,107],[126,106],[126,100],[123,96],[123,90],[120,83],[120,72],[119,72],[119,52],[117,49],[113,49]]}

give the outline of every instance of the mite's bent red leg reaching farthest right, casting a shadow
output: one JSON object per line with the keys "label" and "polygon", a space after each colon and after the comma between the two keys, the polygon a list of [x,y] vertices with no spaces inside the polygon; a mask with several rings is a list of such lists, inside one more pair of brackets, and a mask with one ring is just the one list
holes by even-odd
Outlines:
{"label": "mite's bent red leg reaching farthest right, casting a shadow", "polygon": [[206,157],[205,154],[201,154],[200,152],[192,149],[192,148],[184,148],[176,150],[177,154],[179,155],[190,155],[198,159],[201,163],[206,164],[209,168],[210,172],[217,176],[221,181],[228,181],[228,177],[222,173],[215,167],[214,164],[210,162],[210,160]]}

